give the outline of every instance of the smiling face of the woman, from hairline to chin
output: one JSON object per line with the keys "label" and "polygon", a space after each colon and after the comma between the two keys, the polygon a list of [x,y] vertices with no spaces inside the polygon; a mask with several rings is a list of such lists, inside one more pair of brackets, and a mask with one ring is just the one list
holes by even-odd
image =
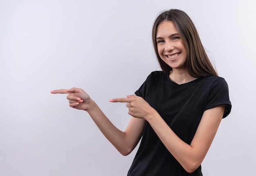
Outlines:
{"label": "smiling face of the woman, from hairline to chin", "polygon": [[173,70],[184,69],[187,52],[173,21],[165,20],[158,25],[156,42],[158,54],[168,66]]}

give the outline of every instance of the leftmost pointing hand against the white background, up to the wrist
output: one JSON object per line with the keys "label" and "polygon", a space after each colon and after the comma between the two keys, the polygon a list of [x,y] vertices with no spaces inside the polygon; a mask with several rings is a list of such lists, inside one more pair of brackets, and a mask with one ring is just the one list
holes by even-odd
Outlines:
{"label": "leftmost pointing hand against the white background, up to the wrist", "polygon": [[79,110],[87,111],[91,102],[91,98],[89,95],[80,88],[72,88],[72,89],[59,89],[51,91],[52,94],[68,94],[67,99],[70,103],[70,107],[76,108]]}

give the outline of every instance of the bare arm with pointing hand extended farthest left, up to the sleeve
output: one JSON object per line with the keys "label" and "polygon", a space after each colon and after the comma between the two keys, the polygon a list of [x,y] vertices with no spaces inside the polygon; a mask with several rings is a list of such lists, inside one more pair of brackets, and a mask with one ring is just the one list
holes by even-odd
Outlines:
{"label": "bare arm with pointing hand extended farthest left, up to the sleeve", "polygon": [[72,88],[70,90],[60,89],[53,90],[51,93],[68,94],[67,99],[69,100],[70,107],[87,111],[99,130],[122,155],[130,154],[141,139],[145,126],[144,119],[132,117],[126,130],[123,132],[112,124],[84,90],[79,88]]}

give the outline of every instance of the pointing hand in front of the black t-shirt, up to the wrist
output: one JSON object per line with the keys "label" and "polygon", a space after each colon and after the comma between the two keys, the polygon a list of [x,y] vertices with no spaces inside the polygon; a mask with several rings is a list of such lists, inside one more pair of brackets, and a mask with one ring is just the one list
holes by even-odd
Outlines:
{"label": "pointing hand in front of the black t-shirt, up to the wrist", "polygon": [[110,102],[126,102],[128,114],[132,117],[146,120],[156,112],[143,98],[136,95],[127,95],[127,98],[111,99]]}

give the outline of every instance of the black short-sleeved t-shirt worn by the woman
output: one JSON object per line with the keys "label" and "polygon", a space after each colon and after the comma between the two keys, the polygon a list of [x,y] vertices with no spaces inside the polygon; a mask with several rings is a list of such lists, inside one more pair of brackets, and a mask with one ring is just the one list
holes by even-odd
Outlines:
{"label": "black short-sleeved t-shirt worn by the woman", "polygon": [[[152,106],[170,128],[190,144],[205,110],[226,105],[223,118],[231,111],[225,79],[200,77],[186,84],[176,84],[168,73],[152,72],[135,92]],[[166,149],[146,122],[137,154],[128,176],[202,176],[201,166],[188,173]]]}

